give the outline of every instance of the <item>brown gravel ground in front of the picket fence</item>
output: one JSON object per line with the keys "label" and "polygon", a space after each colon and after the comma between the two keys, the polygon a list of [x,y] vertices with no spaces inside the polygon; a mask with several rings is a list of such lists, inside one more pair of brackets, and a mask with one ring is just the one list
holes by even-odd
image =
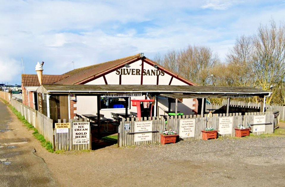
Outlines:
{"label": "brown gravel ground in front of the picket fence", "polygon": [[284,138],[110,146],[40,156],[61,186],[285,186]]}

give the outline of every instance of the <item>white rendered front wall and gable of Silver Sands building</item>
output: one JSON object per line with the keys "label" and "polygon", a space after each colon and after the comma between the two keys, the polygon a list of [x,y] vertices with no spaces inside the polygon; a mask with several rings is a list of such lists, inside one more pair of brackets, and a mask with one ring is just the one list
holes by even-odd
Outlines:
{"label": "white rendered front wall and gable of Silver Sands building", "polygon": [[[158,70],[154,68],[152,65],[145,63],[145,62],[143,63],[143,68],[146,72],[147,71],[151,72],[151,70],[154,70],[154,71]],[[121,70],[121,69],[125,69],[125,70]],[[113,72],[110,72],[105,75],[107,84],[108,85],[111,85],[111,84],[118,85],[120,81],[120,75],[118,74],[121,74],[123,72],[123,74],[129,74],[129,75],[121,75],[122,85],[140,85],[141,73],[142,73],[141,69],[142,69],[142,61],[139,60],[132,64],[129,64],[128,67],[122,67],[120,69],[114,70]],[[136,75],[137,71],[140,72],[140,75]],[[161,75],[159,75],[159,85],[169,85],[172,76],[168,75],[165,72],[163,74],[161,73]],[[157,75],[143,75],[143,85],[156,85],[156,81],[157,81]],[[103,77],[99,77],[86,84],[105,85],[105,80]],[[173,77],[171,85],[187,85],[187,84]],[[162,96],[158,96],[158,97],[162,98]],[[132,97],[131,99],[145,99],[145,96]],[[168,111],[168,100],[167,99],[158,98],[157,104],[158,106],[165,108],[165,110]],[[192,109],[195,109],[195,107],[193,107],[193,104],[195,104],[193,99],[183,99],[183,103],[178,103],[178,111],[183,112],[185,115],[194,114],[194,112],[192,111]],[[82,115],[82,114],[96,115],[97,96],[77,96],[76,106],[77,106],[77,114],[79,115]],[[175,111],[175,103],[171,104],[171,110]],[[160,108],[158,109],[158,111],[159,113],[157,115],[164,114],[164,112],[162,112]],[[125,112],[125,109],[102,109],[100,110],[100,113],[104,114],[106,118],[111,118],[111,112],[114,112],[114,113]],[[130,110],[128,110],[128,112],[137,112],[137,108],[134,106],[130,106]]]}

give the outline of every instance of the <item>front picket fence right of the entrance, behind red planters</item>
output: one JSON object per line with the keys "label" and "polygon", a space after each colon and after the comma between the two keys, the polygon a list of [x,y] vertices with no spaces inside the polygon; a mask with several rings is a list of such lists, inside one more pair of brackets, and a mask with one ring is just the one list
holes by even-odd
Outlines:
{"label": "front picket fence right of the entrance, behind red planters", "polygon": [[[254,116],[257,115],[265,115],[266,122],[269,123],[265,126],[265,131],[263,132],[253,132],[253,134],[272,134],[274,132],[274,115],[272,112],[254,112],[254,113],[246,113],[245,115],[241,115],[241,113],[230,113],[230,114],[218,114],[207,117],[207,115],[200,116],[200,115],[183,115],[183,116],[171,116],[167,117],[167,119],[163,118],[144,118],[141,119],[142,121],[152,121],[153,128],[152,128],[152,140],[148,141],[139,141],[136,142],[134,135],[136,132],[134,131],[134,123],[138,121],[138,118],[132,118],[131,120],[121,122],[119,126],[119,137],[118,142],[120,147],[129,146],[129,145],[140,145],[140,144],[152,144],[152,143],[159,143],[160,142],[160,133],[164,131],[166,128],[167,130],[173,129],[179,132],[179,125],[181,119],[195,119],[195,136],[194,137],[187,137],[181,138],[179,137],[179,141],[181,140],[201,140],[202,139],[202,130],[206,127],[213,127],[214,129],[219,129],[219,118],[221,117],[233,117],[233,125],[232,125],[232,133],[231,134],[223,134],[219,135],[222,137],[234,137],[235,136],[235,128],[238,127],[239,124],[243,126],[247,126],[247,124],[253,124]],[[167,123],[165,123],[167,121]],[[130,130],[125,130],[125,124],[130,124]],[[253,128],[253,126],[252,126]]]}

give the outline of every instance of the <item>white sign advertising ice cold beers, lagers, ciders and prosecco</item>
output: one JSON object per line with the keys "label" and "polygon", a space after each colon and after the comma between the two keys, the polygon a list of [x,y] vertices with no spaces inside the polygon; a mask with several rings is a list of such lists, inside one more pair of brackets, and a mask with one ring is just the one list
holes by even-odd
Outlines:
{"label": "white sign advertising ice cold beers, lagers, ciders and prosecco", "polygon": [[181,138],[195,137],[195,119],[183,119],[179,124],[179,136]]}

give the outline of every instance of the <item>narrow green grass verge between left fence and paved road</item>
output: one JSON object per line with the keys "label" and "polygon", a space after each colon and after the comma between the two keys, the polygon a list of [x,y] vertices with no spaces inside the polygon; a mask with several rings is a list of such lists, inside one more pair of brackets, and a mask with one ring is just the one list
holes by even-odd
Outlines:
{"label": "narrow green grass verge between left fence and paved road", "polygon": [[14,107],[12,107],[11,104],[9,104],[7,101],[4,99],[1,99],[11,110],[12,112],[17,116],[17,118],[20,120],[20,122],[23,123],[24,126],[26,126],[29,130],[33,130],[34,132],[32,133],[33,136],[41,142],[41,145],[48,151],[53,153],[53,145],[51,142],[48,142],[45,140],[44,136],[42,134],[39,134],[38,130],[34,128],[20,112],[18,112]]}

